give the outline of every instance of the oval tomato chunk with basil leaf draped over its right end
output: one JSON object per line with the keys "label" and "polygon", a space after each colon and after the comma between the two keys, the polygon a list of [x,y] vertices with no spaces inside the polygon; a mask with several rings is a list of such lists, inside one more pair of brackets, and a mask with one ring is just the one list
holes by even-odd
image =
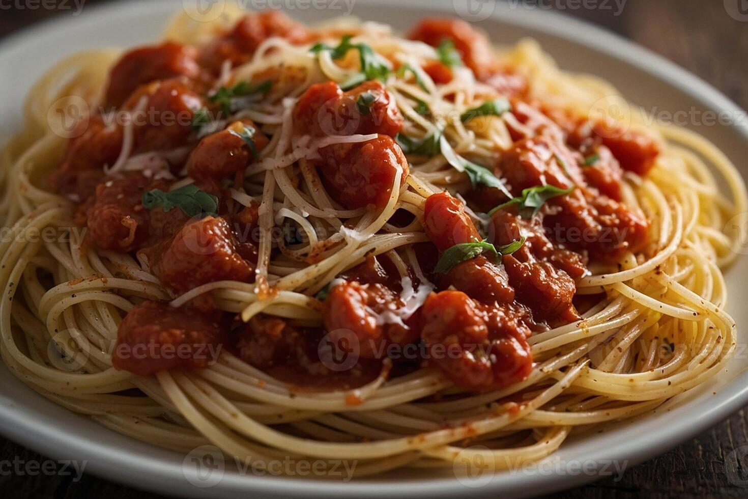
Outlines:
{"label": "oval tomato chunk with basil leaf draped over its right end", "polygon": [[197,144],[187,160],[187,174],[196,180],[221,180],[244,171],[256,159],[251,147],[239,136],[246,133],[245,129],[252,130],[251,140],[260,153],[268,145],[265,134],[251,120],[235,121]]}

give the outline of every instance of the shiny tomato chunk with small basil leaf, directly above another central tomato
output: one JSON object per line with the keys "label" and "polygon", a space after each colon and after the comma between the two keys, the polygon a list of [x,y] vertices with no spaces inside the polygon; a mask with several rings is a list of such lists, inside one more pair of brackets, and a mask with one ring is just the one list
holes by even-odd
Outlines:
{"label": "shiny tomato chunk with small basil leaf, directly above another central tomato", "polygon": [[394,137],[405,126],[395,100],[378,81],[364,82],[347,92],[335,82],[312,85],[296,103],[294,117],[297,131],[312,135]]}

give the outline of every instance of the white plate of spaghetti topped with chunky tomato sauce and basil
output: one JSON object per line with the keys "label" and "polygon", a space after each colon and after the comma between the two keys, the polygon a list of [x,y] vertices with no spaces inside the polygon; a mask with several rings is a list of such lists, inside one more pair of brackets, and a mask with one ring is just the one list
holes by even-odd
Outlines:
{"label": "white plate of spaghetti topped with chunky tomato sauce and basil", "polygon": [[51,67],[6,85],[8,435],[183,495],[528,495],[746,402],[746,129],[601,77],[707,85],[546,13],[148,3],[0,49]]}

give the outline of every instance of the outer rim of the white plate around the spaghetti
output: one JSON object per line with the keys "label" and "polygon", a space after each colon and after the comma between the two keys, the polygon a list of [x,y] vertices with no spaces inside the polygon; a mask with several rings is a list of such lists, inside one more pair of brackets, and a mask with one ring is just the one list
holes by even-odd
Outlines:
{"label": "outer rim of the white plate around the spaghetti", "polygon": [[[183,0],[186,3],[187,0]],[[417,8],[420,6],[424,13],[446,13],[459,0],[411,0],[403,5],[402,0],[356,0],[361,4],[376,4],[384,7]],[[176,5],[176,8],[175,8]],[[497,2],[496,8],[485,19],[487,22],[499,22],[518,27],[533,28],[544,31],[563,40],[577,43],[607,58],[623,61],[651,76],[657,77],[671,88],[678,89],[691,100],[699,102],[705,108],[724,110],[732,113],[744,112],[743,109],[726,97],[713,85],[705,82],[699,76],[690,73],[672,61],[646,49],[619,34],[593,25],[581,19],[575,19],[562,13],[540,9],[512,9],[506,2]],[[178,10],[179,6],[171,0],[150,0],[136,2],[133,0],[114,0],[108,4],[96,4],[88,7],[79,17],[55,16],[38,22],[31,27],[21,28],[9,34],[0,41],[0,59],[7,53],[22,49],[26,40],[37,36],[58,37],[61,31],[79,19],[86,19],[92,24],[105,21],[113,13],[119,13],[126,20],[129,17],[142,15],[144,10],[156,11],[159,15],[167,10]],[[77,23],[76,23],[77,26]],[[49,31],[49,33],[47,33]],[[604,42],[604,43],[601,43]],[[44,61],[45,65],[55,61]],[[748,143],[748,124],[731,123],[728,127],[736,132]],[[31,390],[30,388],[27,388]],[[720,391],[710,399],[710,404],[703,411],[695,414],[688,425],[669,426],[661,430],[656,438],[649,441],[622,441],[598,449],[587,456],[591,461],[605,459],[614,455],[619,460],[628,461],[631,465],[643,462],[653,456],[665,453],[673,447],[687,440],[693,435],[708,429],[720,420],[729,417],[748,402],[748,370],[743,370],[734,376]],[[362,498],[373,497],[408,497],[442,498],[452,497],[456,493],[465,493],[465,487],[456,480],[449,478],[435,478],[423,480],[407,480],[393,483],[356,482],[331,483],[321,480],[283,479],[277,477],[242,477],[234,474],[224,476],[218,486],[211,489],[199,489],[190,486],[185,480],[174,483],[174,478],[183,478],[185,470],[172,463],[159,459],[135,455],[123,449],[112,449],[107,444],[99,444],[91,439],[70,439],[55,427],[43,426],[40,420],[28,418],[24,411],[13,408],[13,403],[0,403],[0,434],[36,450],[45,456],[56,459],[75,459],[76,456],[86,456],[88,467],[86,471],[125,486],[147,489],[162,494],[174,495],[178,492],[189,497],[233,497],[256,492],[281,497],[292,493],[299,497],[348,497],[355,494]],[[132,483],[128,478],[135,474],[138,483]],[[533,474],[514,475],[511,480],[497,480],[482,489],[473,489],[473,497],[495,495],[502,492],[507,497],[536,495],[544,492],[556,492],[597,480],[596,475],[580,474],[576,477],[569,475]]]}

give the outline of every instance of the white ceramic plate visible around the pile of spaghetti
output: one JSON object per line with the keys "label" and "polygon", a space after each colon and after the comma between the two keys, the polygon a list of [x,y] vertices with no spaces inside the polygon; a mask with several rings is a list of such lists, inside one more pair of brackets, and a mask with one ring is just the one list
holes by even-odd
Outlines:
{"label": "white ceramic plate visible around the pile of spaghetti", "polygon": [[[213,0],[214,2],[216,0]],[[336,0],[337,1],[337,0]],[[134,46],[156,40],[163,23],[182,4],[193,1],[120,1],[104,7],[84,7],[80,16],[61,16],[0,43],[0,140],[21,126],[21,105],[31,83],[65,55],[100,46]],[[277,1],[275,4],[295,4]],[[301,21],[318,21],[346,11],[296,8],[289,13]],[[514,2],[516,4],[517,2]],[[316,4],[300,2],[297,6]],[[426,15],[454,16],[462,0],[357,0],[353,13],[362,19],[387,22],[405,29]],[[495,7],[494,7],[495,5]],[[740,108],[711,86],[674,64],[607,31],[544,10],[512,9],[510,4],[473,2],[470,20],[482,18],[480,27],[494,42],[513,43],[535,37],[561,67],[604,76],[633,102],[654,111],[723,111],[738,116]],[[634,8],[634,7],[627,7]],[[732,126],[694,126],[714,141],[733,161],[741,164],[748,143],[745,120]],[[743,173],[747,165],[743,162]],[[748,260],[740,259],[727,278],[732,307],[740,325],[748,323],[748,307],[735,307],[745,296]],[[745,339],[748,331],[740,328]],[[738,349],[743,353],[743,349]],[[548,465],[495,475],[490,481],[465,486],[447,472],[399,471],[348,483],[242,476],[226,471],[217,484],[203,483],[191,468],[183,468],[185,456],[125,438],[85,417],[38,396],[0,366],[0,432],[55,459],[88,462],[86,471],[142,489],[169,495],[194,497],[398,497],[441,498],[461,494],[473,497],[538,495],[577,486],[595,479],[588,470],[604,471],[607,462],[631,467],[663,453],[681,441],[719,423],[748,403],[748,361],[740,355],[729,369],[706,385],[668,402],[654,414],[639,420],[611,425],[603,433],[567,441]],[[614,468],[608,468],[614,471]],[[479,485],[474,487],[474,485]]]}

